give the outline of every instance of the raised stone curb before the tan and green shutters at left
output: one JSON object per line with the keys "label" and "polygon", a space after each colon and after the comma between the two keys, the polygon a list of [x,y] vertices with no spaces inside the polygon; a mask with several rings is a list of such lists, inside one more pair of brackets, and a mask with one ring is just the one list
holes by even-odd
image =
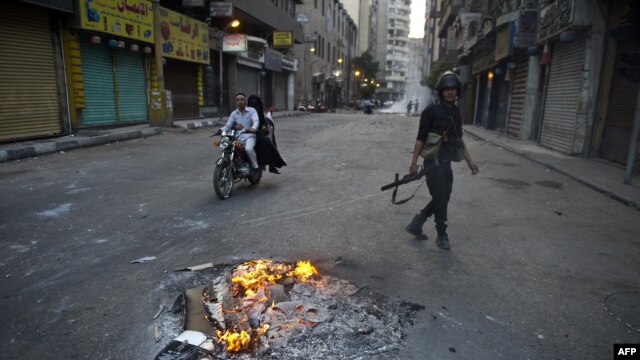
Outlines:
{"label": "raised stone curb before the tan and green shutters at left", "polygon": [[61,141],[45,141],[33,145],[26,145],[24,147],[19,147],[16,149],[0,150],[0,162],[23,159],[26,157],[33,157],[44,154],[52,154],[59,151],[66,151],[81,147],[103,145],[117,141],[139,139],[158,135],[163,131],[164,129],[161,127],[151,127],[148,129],[124,131],[115,134],[78,137],[76,139]]}

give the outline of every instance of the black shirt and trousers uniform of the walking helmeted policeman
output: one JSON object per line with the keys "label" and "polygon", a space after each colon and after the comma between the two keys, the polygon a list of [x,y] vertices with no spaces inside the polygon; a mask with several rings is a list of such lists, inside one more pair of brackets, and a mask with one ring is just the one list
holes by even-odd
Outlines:
{"label": "black shirt and trousers uniform of the walking helmeted policeman", "polygon": [[462,138],[462,117],[457,106],[448,107],[444,104],[429,105],[420,116],[420,128],[417,140],[427,142],[427,134],[435,132],[444,134],[447,139],[443,141],[436,159],[424,160],[424,168],[427,172],[427,186],[431,194],[431,201],[416,216],[419,226],[435,215],[436,230],[438,236],[447,234],[447,206],[453,187],[453,171],[451,160],[458,151],[458,142]]}

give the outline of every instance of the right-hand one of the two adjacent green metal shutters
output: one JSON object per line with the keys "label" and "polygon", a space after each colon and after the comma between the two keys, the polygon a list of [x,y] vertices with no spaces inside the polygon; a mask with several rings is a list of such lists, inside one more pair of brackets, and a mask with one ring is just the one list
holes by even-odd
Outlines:
{"label": "right-hand one of the two adjacent green metal shutters", "polygon": [[118,120],[121,123],[147,121],[147,87],[143,57],[138,52],[115,51],[118,88]]}

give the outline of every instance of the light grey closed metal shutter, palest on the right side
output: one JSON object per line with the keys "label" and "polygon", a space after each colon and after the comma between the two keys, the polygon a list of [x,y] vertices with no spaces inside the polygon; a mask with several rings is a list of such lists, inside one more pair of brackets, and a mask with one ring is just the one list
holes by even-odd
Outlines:
{"label": "light grey closed metal shutter, palest on the right side", "polygon": [[582,90],[585,39],[553,45],[544,102],[540,144],[574,153],[578,97]]}

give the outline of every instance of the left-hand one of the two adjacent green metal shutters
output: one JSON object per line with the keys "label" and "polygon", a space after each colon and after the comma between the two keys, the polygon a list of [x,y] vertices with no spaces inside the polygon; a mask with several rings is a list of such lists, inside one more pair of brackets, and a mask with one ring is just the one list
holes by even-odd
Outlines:
{"label": "left-hand one of the two adjacent green metal shutters", "polygon": [[91,44],[88,37],[83,36],[80,38],[80,53],[85,97],[82,126],[114,125],[118,116],[113,52],[105,44]]}

